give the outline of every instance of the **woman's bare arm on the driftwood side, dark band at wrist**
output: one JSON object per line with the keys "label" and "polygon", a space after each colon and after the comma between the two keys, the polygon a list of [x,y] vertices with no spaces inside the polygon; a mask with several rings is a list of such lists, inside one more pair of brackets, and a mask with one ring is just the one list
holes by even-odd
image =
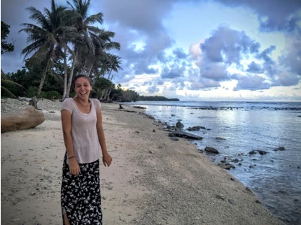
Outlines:
{"label": "woman's bare arm on the driftwood side, dark band at wrist", "polygon": [[67,151],[67,157],[69,159],[69,170],[73,175],[78,175],[80,173],[80,168],[78,166],[78,162],[76,161],[76,157],[73,150],[73,141],[71,136],[71,128],[72,128],[72,115],[68,110],[61,111],[62,117],[62,129],[64,134],[64,143]]}

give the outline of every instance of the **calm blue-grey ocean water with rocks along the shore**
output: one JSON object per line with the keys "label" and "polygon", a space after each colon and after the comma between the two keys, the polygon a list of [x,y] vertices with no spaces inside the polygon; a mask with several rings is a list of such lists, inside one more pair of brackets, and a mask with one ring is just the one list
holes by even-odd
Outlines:
{"label": "calm blue-grey ocean water with rocks along the shore", "polygon": [[[193,141],[197,148],[216,148],[220,154],[207,154],[214,163],[227,157],[227,162],[236,167],[229,172],[250,187],[270,212],[287,224],[301,224],[300,102],[138,101],[128,104],[146,107],[146,114],[169,125],[181,119],[184,130],[190,126],[206,127],[188,131],[203,137]],[[281,146],[286,150],[274,151]],[[267,154],[249,154],[251,150],[263,150]],[[232,159],[239,162],[231,162]]]}

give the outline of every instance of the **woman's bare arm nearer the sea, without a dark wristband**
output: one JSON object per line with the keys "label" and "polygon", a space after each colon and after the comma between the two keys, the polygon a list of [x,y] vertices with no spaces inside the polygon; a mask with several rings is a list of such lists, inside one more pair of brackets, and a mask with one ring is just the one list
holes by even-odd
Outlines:
{"label": "woman's bare arm nearer the sea, without a dark wristband", "polygon": [[102,162],[104,166],[110,166],[112,162],[112,157],[109,154],[108,150],[106,150],[106,139],[104,138],[104,128],[102,126],[102,110],[99,108],[97,110],[97,134],[100,147],[102,147]]}

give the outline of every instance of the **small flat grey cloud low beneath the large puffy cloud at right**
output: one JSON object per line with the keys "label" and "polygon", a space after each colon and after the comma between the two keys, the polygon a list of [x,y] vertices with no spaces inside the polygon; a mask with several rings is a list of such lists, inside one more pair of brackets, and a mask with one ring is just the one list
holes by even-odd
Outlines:
{"label": "small flat grey cloud low beneath the large puffy cloud at right", "polygon": [[260,89],[269,89],[271,85],[266,82],[265,78],[259,75],[233,75],[233,78],[237,78],[237,85],[233,89],[234,91],[239,90],[251,90],[256,91]]}

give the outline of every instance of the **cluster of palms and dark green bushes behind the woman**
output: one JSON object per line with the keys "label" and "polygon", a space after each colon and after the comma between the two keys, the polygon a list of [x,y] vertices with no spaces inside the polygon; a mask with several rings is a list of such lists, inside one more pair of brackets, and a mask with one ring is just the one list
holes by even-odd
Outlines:
{"label": "cluster of palms and dark green bushes behind the woman", "polygon": [[[43,13],[27,8],[34,23],[21,24],[29,43],[21,53],[25,66],[15,73],[1,71],[1,95],[65,99],[74,94],[73,77],[85,74],[100,101],[137,101],[137,92],[111,82],[122,61],[109,51],[120,50],[120,43],[112,41],[114,32],[97,27],[104,22],[103,14],[89,15],[90,9],[90,0],[66,1],[66,6],[52,0]],[[13,43],[5,41],[8,34],[9,25],[1,21],[1,55],[14,50]]]}

